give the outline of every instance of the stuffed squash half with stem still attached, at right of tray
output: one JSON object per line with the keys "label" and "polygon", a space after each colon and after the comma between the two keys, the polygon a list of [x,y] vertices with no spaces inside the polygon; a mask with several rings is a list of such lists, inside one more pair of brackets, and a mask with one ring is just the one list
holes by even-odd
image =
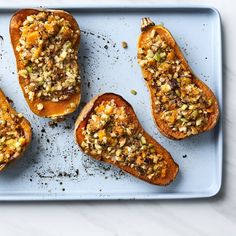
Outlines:
{"label": "stuffed squash half with stem still attached, at right of tray", "polygon": [[215,127],[219,106],[211,89],[192,72],[171,33],[142,19],[138,63],[151,95],[160,132],[184,139]]}

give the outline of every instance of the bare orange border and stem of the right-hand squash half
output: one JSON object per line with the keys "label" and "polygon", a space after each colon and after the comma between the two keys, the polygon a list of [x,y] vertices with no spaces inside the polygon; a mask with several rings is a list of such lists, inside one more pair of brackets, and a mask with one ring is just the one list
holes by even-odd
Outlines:
{"label": "bare orange border and stem of the right-hand squash half", "polygon": [[[178,44],[176,43],[176,41],[175,41],[174,37],[171,35],[171,33],[164,26],[155,25],[149,18],[144,18],[143,20],[145,20],[145,19],[146,19],[146,23],[147,23],[147,21],[149,21],[148,23],[150,23],[150,25],[149,26],[146,25],[146,27],[142,28],[142,33],[138,39],[138,48],[142,47],[142,45],[144,44],[144,42],[148,38],[148,35],[150,34],[150,32],[153,29],[155,29],[156,32],[158,32],[158,34],[161,35],[166,40],[166,42],[169,45],[171,45],[172,48],[174,48],[175,54],[178,57],[178,59],[182,61],[185,68],[187,68],[187,70],[189,70],[191,72],[191,74],[193,75],[193,77],[192,77],[193,82],[197,85],[197,87],[202,89],[203,93],[205,94],[205,96],[208,99],[212,99],[212,101],[213,101],[213,104],[212,104],[213,112],[209,116],[208,123],[205,126],[203,126],[203,128],[200,130],[200,132],[198,134],[205,132],[205,131],[210,131],[211,129],[213,129],[216,126],[216,124],[219,120],[219,117],[220,117],[220,109],[219,109],[219,104],[216,99],[216,96],[214,95],[212,90],[193,73],[192,69],[188,65],[187,60],[185,59],[183,53],[181,52]],[[154,95],[153,89],[151,88],[151,85],[149,84],[152,74],[149,71],[144,70],[143,68],[142,68],[142,74],[143,74],[143,77],[146,78],[145,82],[146,82],[146,85],[149,89],[150,98],[151,98],[152,116],[153,116],[153,119],[154,119],[159,131],[164,136],[166,136],[170,139],[174,139],[174,140],[181,140],[181,139],[185,139],[190,136],[193,136],[193,135],[197,135],[197,134],[187,135],[187,134],[184,134],[179,131],[173,131],[161,119],[161,117],[158,115],[158,113],[155,112],[155,102],[154,102],[155,95]]]}

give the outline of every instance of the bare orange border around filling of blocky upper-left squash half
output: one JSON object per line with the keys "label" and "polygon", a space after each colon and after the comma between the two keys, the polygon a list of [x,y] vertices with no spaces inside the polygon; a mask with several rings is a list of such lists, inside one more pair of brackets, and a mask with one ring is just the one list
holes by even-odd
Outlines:
{"label": "bare orange border around filling of blocky upper-left squash half", "polygon": [[[11,18],[9,31],[10,31],[12,47],[13,47],[14,54],[15,54],[17,71],[24,69],[24,65],[19,60],[19,53],[16,51],[16,46],[17,46],[18,41],[20,39],[19,28],[21,27],[22,23],[27,18],[27,16],[37,14],[40,11],[53,12],[55,15],[58,15],[59,17],[63,17],[64,19],[66,19],[70,22],[70,24],[74,30],[79,31],[79,35],[80,35],[80,29],[79,29],[79,26],[78,26],[76,20],[74,19],[74,17],[72,15],[70,15],[69,13],[67,13],[65,11],[23,9],[23,10],[16,12]],[[75,42],[75,45],[74,45],[74,49],[76,51],[78,51],[78,49],[79,49],[79,44],[80,44],[80,37],[78,37],[78,40]],[[31,109],[31,111],[34,114],[36,114],[38,116],[56,119],[58,117],[62,117],[62,116],[65,116],[67,114],[74,112],[80,104],[81,91],[79,91],[79,93],[74,93],[68,99],[62,100],[59,102],[51,102],[51,101],[43,100],[40,98],[36,98],[34,101],[30,101],[27,94],[24,91],[25,79],[22,76],[18,75],[18,81],[19,81],[21,90],[23,91],[25,100],[26,100],[29,108]],[[81,86],[80,86],[80,89],[81,89]],[[43,107],[44,107],[44,109],[42,109],[41,111],[39,111],[37,109],[37,104],[39,104],[39,103],[43,104]],[[73,108],[70,107],[70,103],[74,103],[75,106]]]}

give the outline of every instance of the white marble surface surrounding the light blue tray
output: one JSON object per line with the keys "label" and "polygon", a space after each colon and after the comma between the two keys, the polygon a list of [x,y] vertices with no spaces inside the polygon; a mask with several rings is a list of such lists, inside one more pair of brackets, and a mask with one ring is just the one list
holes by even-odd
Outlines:
{"label": "white marble surface surrounding the light blue tray", "polygon": [[[69,3],[69,0],[63,1]],[[1,0],[0,7],[9,2],[19,6],[20,1]],[[37,2],[43,5],[49,1]],[[59,4],[62,1],[50,2]],[[30,5],[30,1],[27,3]],[[208,0],[181,3],[212,5],[222,16],[225,151],[220,193],[214,198],[202,200],[0,203],[1,236],[235,235],[236,2]]]}

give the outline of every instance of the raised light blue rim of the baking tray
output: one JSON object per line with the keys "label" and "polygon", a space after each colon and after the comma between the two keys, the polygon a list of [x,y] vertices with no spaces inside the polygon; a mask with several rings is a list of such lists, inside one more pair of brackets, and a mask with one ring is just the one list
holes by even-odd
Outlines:
{"label": "raised light blue rim of the baking tray", "polygon": [[217,168],[218,173],[216,175],[216,183],[214,186],[211,186],[209,191],[203,191],[203,192],[194,192],[194,193],[188,193],[188,192],[182,192],[182,193],[156,193],[156,194],[146,194],[146,193],[134,193],[131,194],[76,194],[76,193],[68,193],[68,194],[39,194],[34,195],[34,193],[30,194],[20,194],[20,195],[1,195],[0,194],[0,201],[64,201],[64,200],[70,200],[70,201],[82,201],[82,200],[157,200],[157,199],[196,199],[196,198],[209,198],[217,195],[222,187],[222,172],[223,172],[223,68],[222,68],[222,22],[221,22],[221,16],[217,8],[206,5],[206,4],[165,4],[165,3],[136,3],[135,5],[133,3],[63,3],[61,2],[58,6],[55,3],[36,3],[34,1],[27,1],[20,2],[20,7],[12,6],[11,3],[6,3],[0,7],[0,12],[4,11],[16,11],[18,9],[22,8],[39,8],[39,9],[45,9],[45,8],[54,8],[54,9],[66,9],[66,10],[76,10],[76,9],[82,9],[82,10],[157,10],[157,9],[174,9],[174,10],[208,10],[212,11],[216,15],[216,24],[218,26],[217,30],[217,39],[219,40],[218,45],[218,60],[219,65],[218,67],[218,74],[219,74],[219,80],[217,81],[217,87],[219,89],[219,97],[218,101],[220,104],[220,110],[221,115],[220,119],[217,125],[218,129],[218,135],[216,137],[218,145],[218,161],[217,161]]}

